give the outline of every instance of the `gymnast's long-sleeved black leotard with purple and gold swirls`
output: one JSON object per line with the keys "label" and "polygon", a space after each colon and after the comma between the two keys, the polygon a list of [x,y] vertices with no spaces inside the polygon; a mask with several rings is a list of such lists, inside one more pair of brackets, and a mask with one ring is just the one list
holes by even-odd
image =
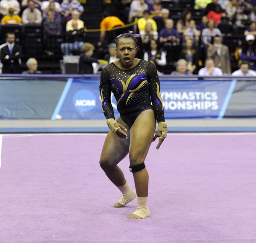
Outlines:
{"label": "gymnast's long-sleeved black leotard with purple and gold swirls", "polygon": [[[127,124],[130,123],[128,124],[130,127],[139,115],[139,111],[145,109],[153,109],[157,122],[164,122],[160,82],[156,67],[152,63],[140,60],[129,70],[122,70],[114,63],[110,63],[102,70],[100,95],[102,110],[107,119],[115,118],[110,102],[111,91],[117,100],[117,110],[120,112],[121,118],[122,115],[129,117],[129,114],[130,117],[135,117],[132,122],[124,120]],[[134,116],[134,114],[137,115]]]}

